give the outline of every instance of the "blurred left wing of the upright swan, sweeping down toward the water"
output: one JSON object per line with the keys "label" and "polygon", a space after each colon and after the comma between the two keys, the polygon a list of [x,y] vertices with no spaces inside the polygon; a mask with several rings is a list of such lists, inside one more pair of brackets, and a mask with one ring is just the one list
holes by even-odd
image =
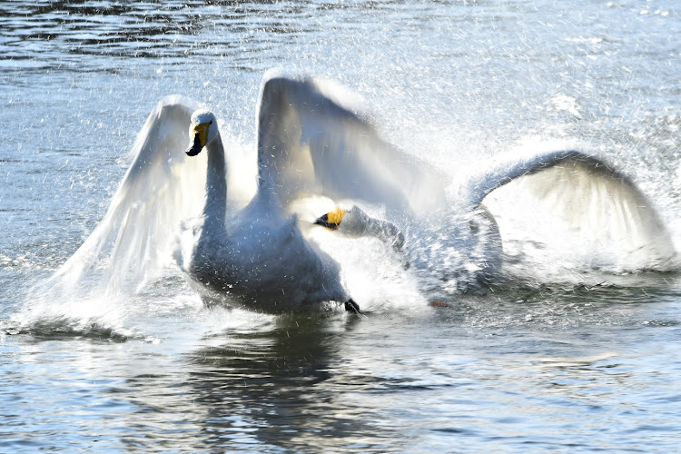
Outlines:
{"label": "blurred left wing of the upright swan, sweeping down toward the water", "polygon": [[192,159],[184,153],[197,107],[191,99],[169,96],[153,109],[104,219],[53,281],[74,284],[98,271],[104,290],[118,291],[166,263],[180,222],[201,207],[196,201],[203,196],[205,153]]}

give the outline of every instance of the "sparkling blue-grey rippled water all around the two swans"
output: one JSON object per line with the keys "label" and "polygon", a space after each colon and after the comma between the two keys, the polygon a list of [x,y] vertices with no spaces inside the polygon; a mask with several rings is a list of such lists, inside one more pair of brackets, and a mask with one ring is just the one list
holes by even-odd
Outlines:
{"label": "sparkling blue-grey rippled water all around the two swans", "polygon": [[0,10],[0,450],[677,450],[675,272],[539,268],[432,308],[398,265],[366,263],[379,246],[344,242],[367,318],[208,310],[173,273],[135,294],[32,291],[103,217],[161,97],[210,104],[247,150],[273,66],[346,84],[386,137],[452,173],[537,137],[587,142],[678,249],[675,2]]}

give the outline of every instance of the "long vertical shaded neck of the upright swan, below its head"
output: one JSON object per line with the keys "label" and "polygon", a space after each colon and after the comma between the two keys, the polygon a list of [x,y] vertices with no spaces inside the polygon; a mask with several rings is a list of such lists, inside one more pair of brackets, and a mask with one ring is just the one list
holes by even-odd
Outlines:
{"label": "long vertical shaded neck of the upright swan, below its head", "polygon": [[208,169],[206,171],[206,201],[203,207],[204,228],[224,228],[227,211],[227,163],[220,133],[206,145]]}

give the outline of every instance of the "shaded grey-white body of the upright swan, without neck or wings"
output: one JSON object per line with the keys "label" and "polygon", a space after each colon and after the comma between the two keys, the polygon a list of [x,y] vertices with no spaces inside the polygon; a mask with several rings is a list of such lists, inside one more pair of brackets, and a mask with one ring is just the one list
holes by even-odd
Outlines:
{"label": "shaded grey-white body of the upright swan, without neck or wings", "polygon": [[348,298],[338,264],[303,238],[295,218],[278,226],[264,219],[202,232],[187,273],[212,300],[250,310],[290,311]]}

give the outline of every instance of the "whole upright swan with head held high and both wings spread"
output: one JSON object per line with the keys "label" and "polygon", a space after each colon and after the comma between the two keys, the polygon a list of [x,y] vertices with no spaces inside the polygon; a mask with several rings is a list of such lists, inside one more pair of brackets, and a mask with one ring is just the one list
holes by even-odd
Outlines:
{"label": "whole upright swan with head held high and both wings spread", "polygon": [[[438,202],[444,180],[382,141],[350,104],[330,83],[266,74],[257,191],[239,208],[229,197],[239,188],[226,178],[234,176],[232,156],[215,116],[187,98],[164,99],[138,136],[104,220],[55,278],[80,281],[100,269],[104,290],[116,291],[153,276],[174,250],[209,302],[281,312],[340,301],[357,310],[338,264],[303,237],[291,207],[314,195],[419,212]],[[181,224],[188,228],[176,246]]]}

